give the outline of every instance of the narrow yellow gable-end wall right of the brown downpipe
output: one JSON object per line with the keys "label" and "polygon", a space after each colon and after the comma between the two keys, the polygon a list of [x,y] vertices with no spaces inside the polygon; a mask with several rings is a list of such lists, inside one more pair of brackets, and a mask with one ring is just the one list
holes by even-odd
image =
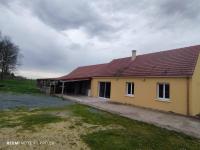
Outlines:
{"label": "narrow yellow gable-end wall right of the brown downpipe", "polygon": [[190,114],[200,114],[200,55],[190,85]]}

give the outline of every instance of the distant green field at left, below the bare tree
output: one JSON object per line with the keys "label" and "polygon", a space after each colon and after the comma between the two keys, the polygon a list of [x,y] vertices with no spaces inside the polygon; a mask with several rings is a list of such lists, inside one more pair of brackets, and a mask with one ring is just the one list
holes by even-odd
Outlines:
{"label": "distant green field at left, below the bare tree", "polygon": [[0,80],[0,92],[23,94],[41,93],[36,86],[36,80]]}

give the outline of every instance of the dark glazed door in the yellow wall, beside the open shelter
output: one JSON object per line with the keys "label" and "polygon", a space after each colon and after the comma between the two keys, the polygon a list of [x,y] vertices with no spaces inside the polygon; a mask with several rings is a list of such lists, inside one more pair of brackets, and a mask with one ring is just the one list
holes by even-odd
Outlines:
{"label": "dark glazed door in the yellow wall, beside the open shelter", "polygon": [[99,82],[99,97],[110,98],[110,82]]}

